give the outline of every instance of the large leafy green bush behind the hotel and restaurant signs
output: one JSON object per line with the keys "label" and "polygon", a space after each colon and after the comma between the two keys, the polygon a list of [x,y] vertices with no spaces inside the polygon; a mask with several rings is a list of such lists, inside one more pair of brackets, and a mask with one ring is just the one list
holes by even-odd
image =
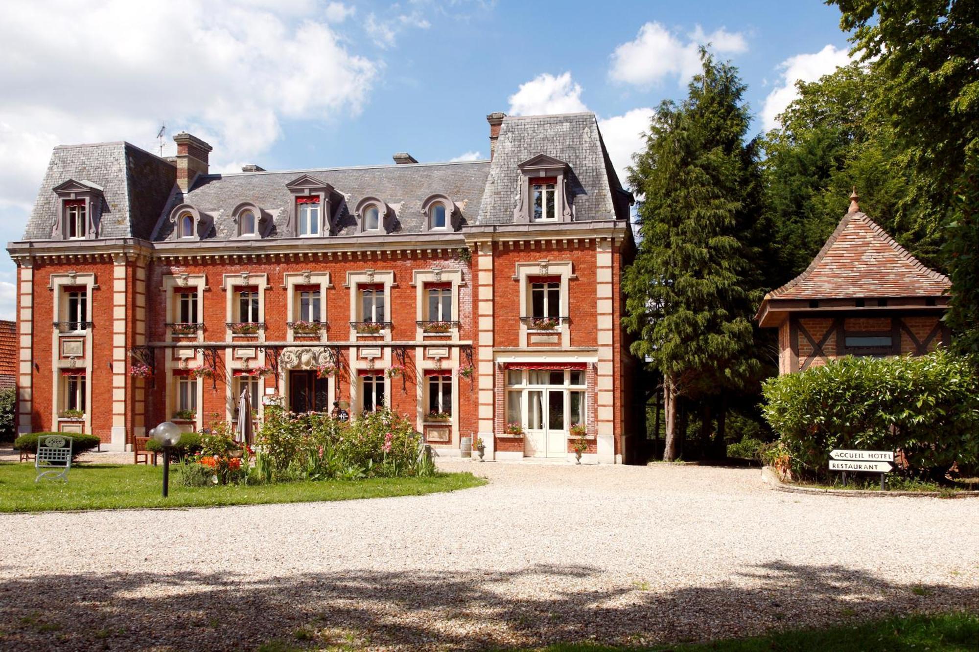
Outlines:
{"label": "large leafy green bush behind the hotel and restaurant signs", "polygon": [[[828,475],[833,448],[902,451],[900,472],[940,480],[979,460],[979,378],[967,358],[844,357],[769,379],[765,418],[779,435],[767,454],[803,477]],[[787,455],[787,458],[785,457]]]}

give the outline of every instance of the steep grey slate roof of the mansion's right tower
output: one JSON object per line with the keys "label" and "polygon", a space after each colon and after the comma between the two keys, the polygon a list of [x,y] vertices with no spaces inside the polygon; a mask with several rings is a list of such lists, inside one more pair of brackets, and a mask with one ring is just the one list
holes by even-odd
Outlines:
{"label": "steep grey slate roof of the mansion's right tower", "polygon": [[[576,221],[629,217],[628,202],[602,145],[598,122],[591,113],[560,116],[507,116],[489,168],[486,195],[478,224],[513,221],[517,205],[517,167],[537,154],[546,154],[571,167],[569,195]],[[625,213],[625,214],[623,214]]]}

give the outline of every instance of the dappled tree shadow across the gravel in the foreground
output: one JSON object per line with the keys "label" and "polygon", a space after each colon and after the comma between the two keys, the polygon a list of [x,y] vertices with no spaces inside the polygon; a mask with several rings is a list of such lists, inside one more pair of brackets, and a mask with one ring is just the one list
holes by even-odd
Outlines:
{"label": "dappled tree shadow across the gravel in the foreground", "polygon": [[777,562],[731,573],[727,584],[664,592],[641,581],[586,590],[597,571],[571,565],[271,581],[250,579],[247,562],[219,572],[42,575],[0,581],[0,649],[248,650],[270,640],[405,649],[644,644],[913,611],[979,612],[977,587],[890,583],[838,566]]}

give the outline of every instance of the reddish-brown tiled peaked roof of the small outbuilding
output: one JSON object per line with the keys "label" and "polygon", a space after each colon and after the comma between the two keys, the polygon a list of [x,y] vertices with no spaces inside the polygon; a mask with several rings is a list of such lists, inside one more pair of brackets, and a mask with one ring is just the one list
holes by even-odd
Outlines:
{"label": "reddish-brown tiled peaked roof of the small outbuilding", "polygon": [[946,276],[854,211],[844,215],[806,271],[765,299],[939,297],[950,287]]}

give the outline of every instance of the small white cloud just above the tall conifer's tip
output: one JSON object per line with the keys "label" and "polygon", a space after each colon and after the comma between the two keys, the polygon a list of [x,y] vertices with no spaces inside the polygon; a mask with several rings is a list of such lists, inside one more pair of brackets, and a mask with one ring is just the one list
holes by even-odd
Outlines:
{"label": "small white cloud just above the tall conifer's tip", "polygon": [[699,24],[682,39],[662,23],[645,23],[635,40],[623,43],[612,53],[609,76],[615,81],[648,88],[666,77],[676,76],[680,85],[700,70],[701,45],[711,43],[720,54],[735,54],[748,49],[744,35],[721,27],[705,33]]}

